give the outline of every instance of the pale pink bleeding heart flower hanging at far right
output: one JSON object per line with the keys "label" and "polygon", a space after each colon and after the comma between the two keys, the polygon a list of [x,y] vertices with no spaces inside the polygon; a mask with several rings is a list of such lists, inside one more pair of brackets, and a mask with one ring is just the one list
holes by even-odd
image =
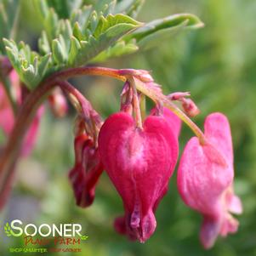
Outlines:
{"label": "pale pink bleeding heart flower hanging at far right", "polygon": [[209,248],[217,236],[236,232],[238,221],[230,213],[242,213],[242,203],[233,191],[233,150],[227,118],[213,113],[206,118],[204,129],[206,145],[193,137],[185,146],[178,189],[185,204],[202,213],[200,239]]}

